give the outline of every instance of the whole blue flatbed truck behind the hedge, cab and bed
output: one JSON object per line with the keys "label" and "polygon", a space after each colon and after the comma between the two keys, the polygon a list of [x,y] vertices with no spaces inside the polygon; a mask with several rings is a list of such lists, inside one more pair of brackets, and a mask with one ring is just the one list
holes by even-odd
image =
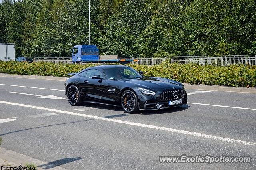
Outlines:
{"label": "whole blue flatbed truck behind the hedge, cab and bed", "polygon": [[99,55],[96,45],[75,45],[72,51],[72,63],[120,63],[127,64],[137,59],[118,59],[118,55]]}

